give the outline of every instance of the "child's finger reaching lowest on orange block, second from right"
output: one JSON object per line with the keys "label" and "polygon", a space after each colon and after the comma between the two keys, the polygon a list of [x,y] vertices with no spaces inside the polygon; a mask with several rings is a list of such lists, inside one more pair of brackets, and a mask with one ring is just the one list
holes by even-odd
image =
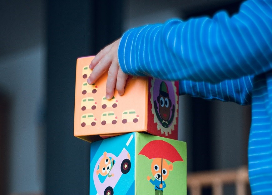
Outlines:
{"label": "child's finger reaching lowest on orange block, second from right", "polygon": [[117,73],[118,73],[118,65],[111,64],[111,67],[108,71],[108,79],[106,83],[106,98],[108,100],[110,100],[114,96],[114,88],[116,85]]}

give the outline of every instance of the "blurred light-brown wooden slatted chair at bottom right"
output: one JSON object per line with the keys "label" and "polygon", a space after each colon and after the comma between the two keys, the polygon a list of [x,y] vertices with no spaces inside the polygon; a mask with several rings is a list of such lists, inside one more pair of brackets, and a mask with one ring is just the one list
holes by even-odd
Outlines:
{"label": "blurred light-brown wooden slatted chair at bottom right", "polygon": [[213,195],[223,195],[223,186],[228,184],[235,184],[236,195],[246,195],[249,184],[247,167],[191,173],[187,176],[187,187],[191,195],[201,195],[205,187],[211,187]]}

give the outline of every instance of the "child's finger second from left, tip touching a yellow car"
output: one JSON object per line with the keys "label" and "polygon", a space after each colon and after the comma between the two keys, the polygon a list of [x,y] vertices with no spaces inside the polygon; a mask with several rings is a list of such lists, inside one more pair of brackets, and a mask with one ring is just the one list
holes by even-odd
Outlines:
{"label": "child's finger second from left, tip touching a yellow car", "polygon": [[105,55],[96,65],[91,72],[91,75],[87,79],[89,84],[93,84],[105,71],[109,69],[111,65],[111,56]]}

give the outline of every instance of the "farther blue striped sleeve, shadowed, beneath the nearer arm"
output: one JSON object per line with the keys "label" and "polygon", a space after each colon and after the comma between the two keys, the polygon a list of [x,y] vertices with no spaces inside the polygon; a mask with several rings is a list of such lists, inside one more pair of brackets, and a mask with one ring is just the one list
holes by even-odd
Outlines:
{"label": "farther blue striped sleeve, shadowed, beneath the nearer arm", "polygon": [[231,101],[240,105],[251,105],[252,80],[254,76],[244,76],[239,79],[224,80],[220,83],[195,82],[181,80],[180,95],[191,95],[206,100]]}

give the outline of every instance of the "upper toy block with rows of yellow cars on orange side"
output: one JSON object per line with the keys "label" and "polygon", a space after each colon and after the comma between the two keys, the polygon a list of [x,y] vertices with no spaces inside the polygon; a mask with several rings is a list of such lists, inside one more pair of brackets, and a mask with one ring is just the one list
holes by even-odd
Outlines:
{"label": "upper toy block with rows of yellow cars on orange side", "polygon": [[[129,132],[178,137],[178,82],[129,76],[125,94],[107,100],[103,75],[87,83],[94,56],[77,59],[74,135],[92,142]],[[99,136],[100,135],[100,136]]]}

